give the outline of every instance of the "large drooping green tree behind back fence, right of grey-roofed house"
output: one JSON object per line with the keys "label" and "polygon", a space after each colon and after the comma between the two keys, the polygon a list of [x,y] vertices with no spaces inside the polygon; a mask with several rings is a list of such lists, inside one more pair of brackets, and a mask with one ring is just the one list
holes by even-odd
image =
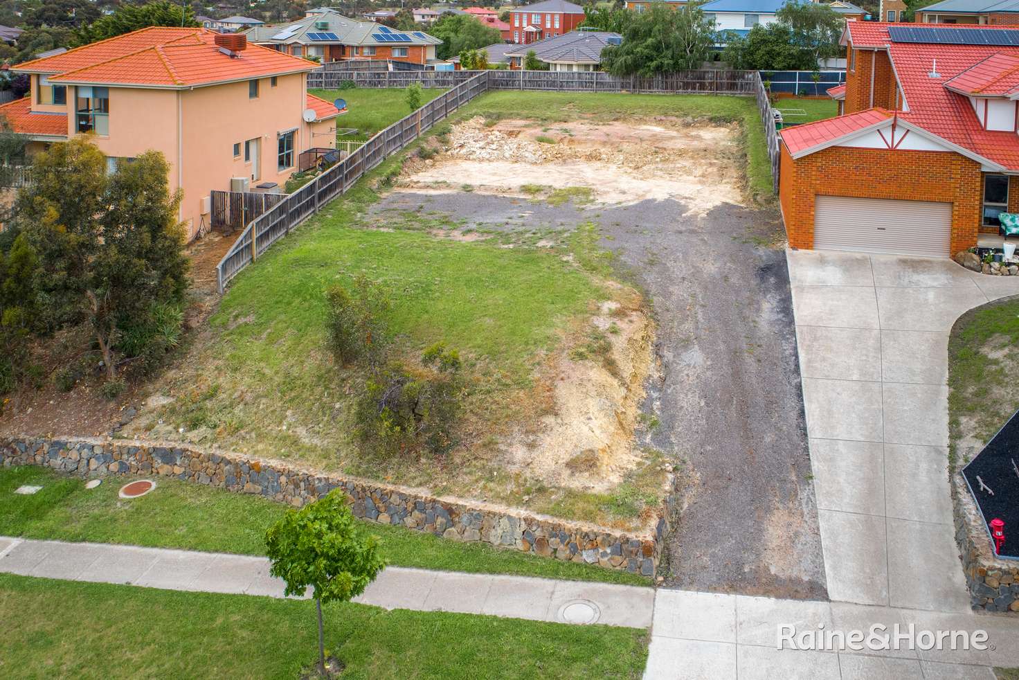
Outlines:
{"label": "large drooping green tree behind back fence, right of grey-roofed house", "polygon": [[691,2],[679,9],[657,3],[623,29],[623,44],[601,52],[601,67],[613,75],[652,76],[699,68],[714,46],[714,21]]}

